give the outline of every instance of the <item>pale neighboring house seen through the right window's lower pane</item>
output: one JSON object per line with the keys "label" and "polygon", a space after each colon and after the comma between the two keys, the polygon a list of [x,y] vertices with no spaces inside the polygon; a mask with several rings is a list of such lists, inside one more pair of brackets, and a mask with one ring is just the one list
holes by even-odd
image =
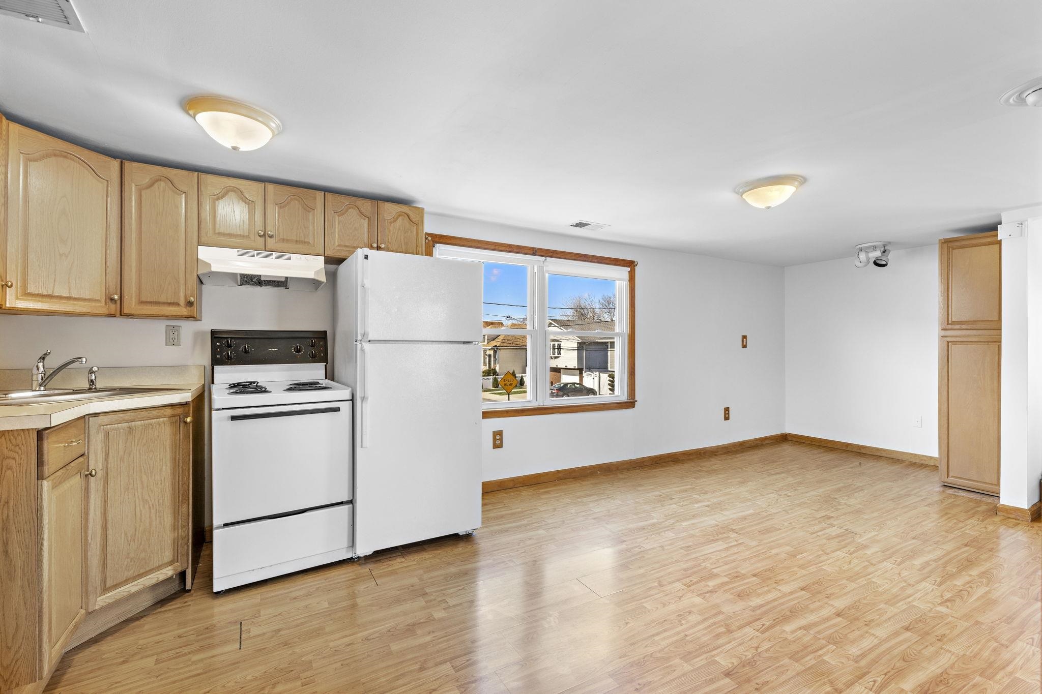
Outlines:
{"label": "pale neighboring house seen through the right window's lower pane", "polygon": [[[612,332],[615,320],[552,318],[550,330],[550,385],[561,381],[585,383],[609,394],[607,375],[615,371],[615,348],[612,337],[571,335],[569,330]],[[586,375],[592,375],[588,377]]]}

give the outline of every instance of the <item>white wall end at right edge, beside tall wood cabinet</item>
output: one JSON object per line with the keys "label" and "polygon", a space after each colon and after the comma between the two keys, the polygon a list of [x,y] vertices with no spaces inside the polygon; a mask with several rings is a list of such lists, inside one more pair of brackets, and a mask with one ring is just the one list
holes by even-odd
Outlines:
{"label": "white wall end at right edge, beside tall wood cabinet", "polygon": [[1000,502],[1039,500],[1042,477],[1042,207],[1002,213],[1027,221],[1002,242],[1002,422]]}

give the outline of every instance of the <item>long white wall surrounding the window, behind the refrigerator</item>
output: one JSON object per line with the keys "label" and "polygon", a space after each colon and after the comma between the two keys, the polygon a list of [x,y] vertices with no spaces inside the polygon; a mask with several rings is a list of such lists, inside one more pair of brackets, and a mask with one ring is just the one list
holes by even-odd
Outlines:
{"label": "long white wall surrounding the window, behind the refrigerator", "polygon": [[[486,480],[785,431],[780,267],[433,214],[426,230],[638,261],[637,407],[485,419]],[[749,336],[744,350],[742,335]],[[730,421],[723,421],[725,406]],[[494,451],[497,429],[503,447]]]}

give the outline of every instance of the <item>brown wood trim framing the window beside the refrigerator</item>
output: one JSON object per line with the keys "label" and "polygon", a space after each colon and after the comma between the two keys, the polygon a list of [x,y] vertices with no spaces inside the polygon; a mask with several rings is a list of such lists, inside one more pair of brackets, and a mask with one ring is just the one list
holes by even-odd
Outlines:
{"label": "brown wood trim framing the window beside the refrigerator", "polygon": [[576,260],[601,265],[615,265],[629,269],[627,282],[628,317],[626,320],[626,399],[606,403],[582,403],[579,405],[542,405],[527,407],[512,407],[494,410],[482,410],[482,419],[498,419],[500,417],[526,417],[542,414],[569,414],[572,412],[601,412],[605,410],[628,410],[637,406],[637,261],[623,258],[589,255],[587,253],[571,253],[569,251],[553,251],[534,246],[518,246],[501,243],[478,238],[449,236],[446,234],[425,234],[423,238],[424,255],[435,255],[436,246],[455,246],[479,251],[495,251],[498,253],[514,253],[517,255],[541,256],[561,260]]}

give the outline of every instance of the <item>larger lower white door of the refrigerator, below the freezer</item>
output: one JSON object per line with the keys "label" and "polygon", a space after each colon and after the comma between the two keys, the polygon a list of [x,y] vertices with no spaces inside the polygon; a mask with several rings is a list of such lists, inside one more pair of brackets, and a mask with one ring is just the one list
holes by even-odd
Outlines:
{"label": "larger lower white door of the refrigerator, below the freezer", "polygon": [[358,344],[355,551],[481,524],[480,348]]}

